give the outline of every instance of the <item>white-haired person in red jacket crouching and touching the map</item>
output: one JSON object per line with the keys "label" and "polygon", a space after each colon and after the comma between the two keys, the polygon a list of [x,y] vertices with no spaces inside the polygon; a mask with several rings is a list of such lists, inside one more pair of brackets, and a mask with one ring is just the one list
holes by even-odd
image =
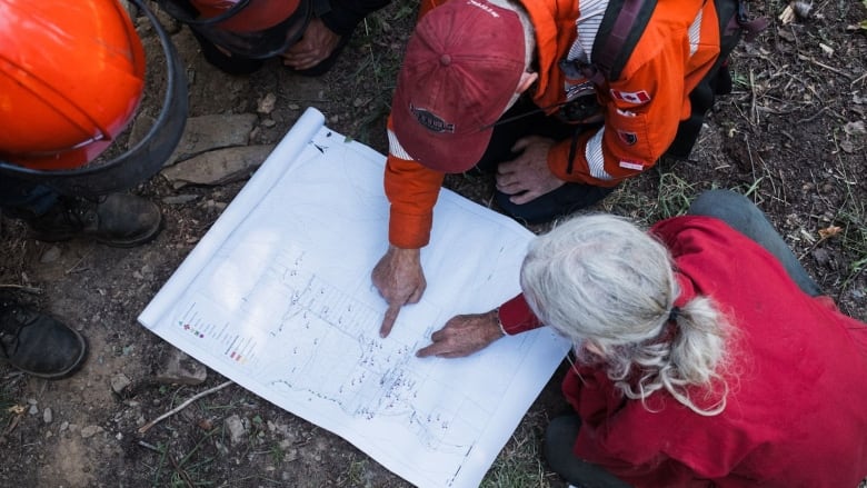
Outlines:
{"label": "white-haired person in red jacket crouching and touching the map", "polygon": [[[645,233],[596,215],[530,246],[524,293],[458,316],[418,356],[540,323],[574,345],[551,469],[594,487],[856,487],[867,476],[867,325],[820,295],[745,197],[701,195]],[[498,321],[501,320],[501,323]]]}

